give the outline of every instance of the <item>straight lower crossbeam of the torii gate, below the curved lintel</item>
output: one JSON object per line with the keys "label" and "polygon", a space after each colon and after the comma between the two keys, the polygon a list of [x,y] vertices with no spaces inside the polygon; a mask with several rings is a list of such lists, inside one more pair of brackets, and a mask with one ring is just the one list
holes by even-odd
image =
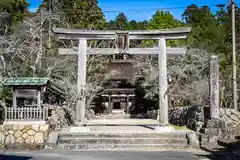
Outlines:
{"label": "straight lower crossbeam of the torii gate, below the curved lintel", "polygon": [[[167,55],[183,55],[186,53],[185,48],[167,48]],[[59,48],[60,55],[78,55],[77,48]],[[158,48],[129,48],[130,55],[157,55]],[[87,55],[114,55],[116,54],[115,48],[88,48]]]}

